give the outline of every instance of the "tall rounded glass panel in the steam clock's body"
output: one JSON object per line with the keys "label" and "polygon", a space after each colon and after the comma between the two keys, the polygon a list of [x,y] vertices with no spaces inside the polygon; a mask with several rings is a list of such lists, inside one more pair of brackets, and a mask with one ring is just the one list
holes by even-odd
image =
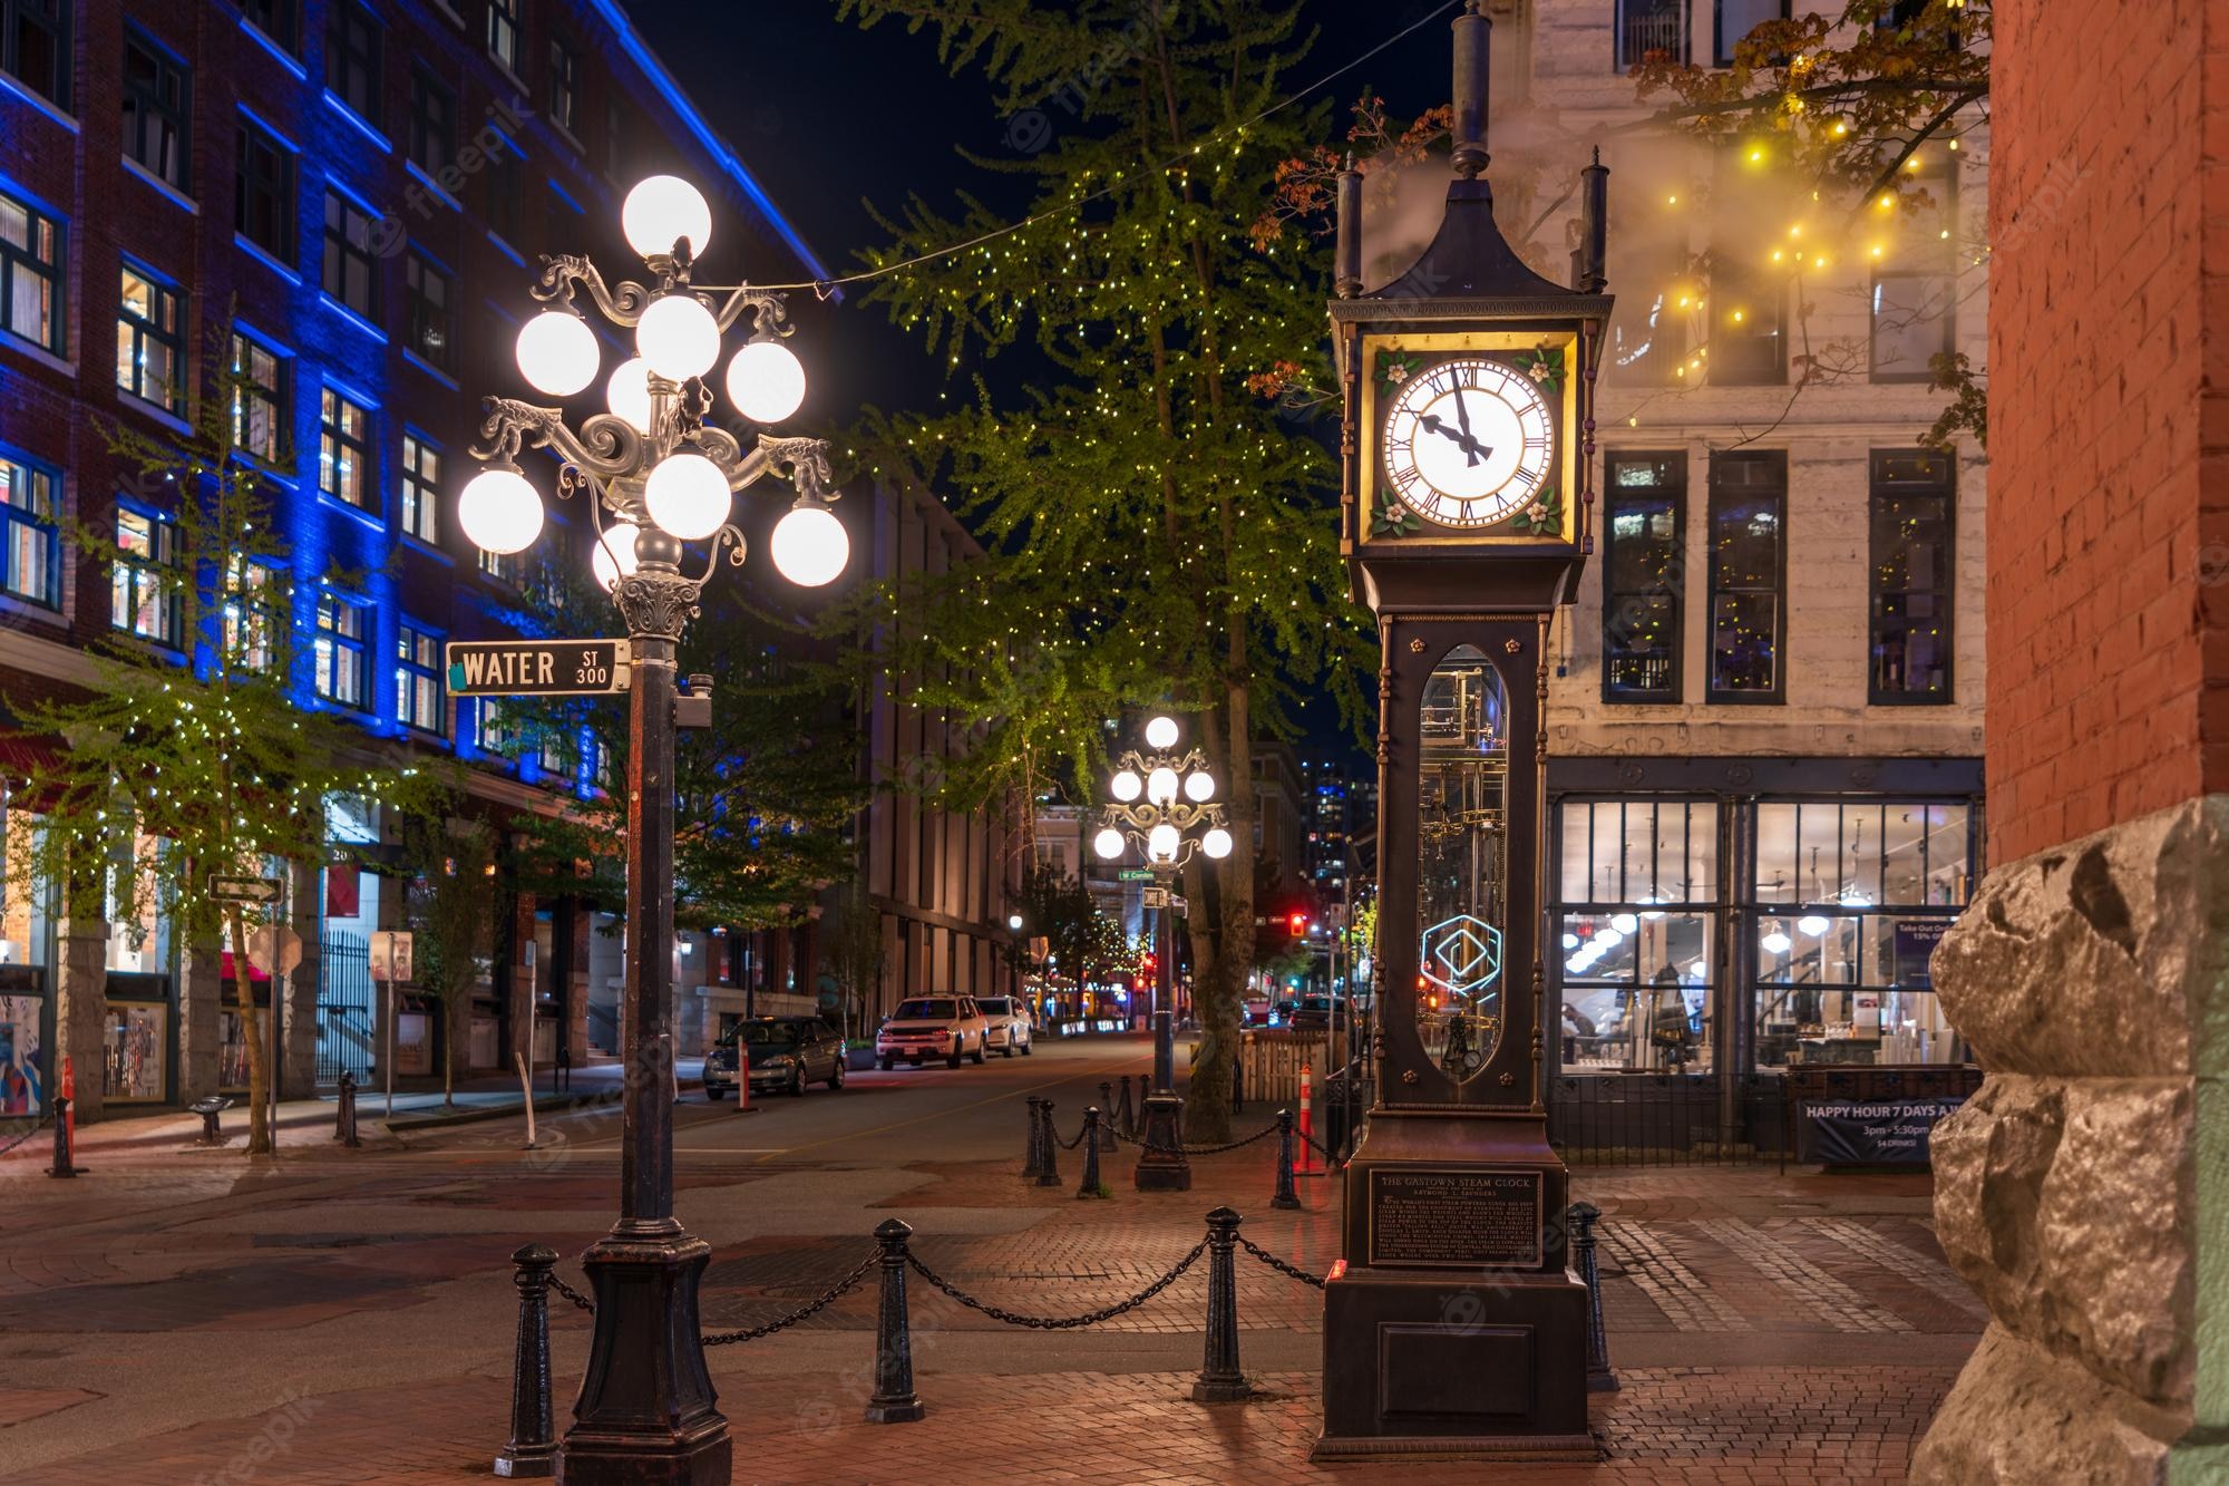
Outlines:
{"label": "tall rounded glass panel in the steam clock's body", "polygon": [[1418,781],[1418,1031],[1456,1082],[1502,1040],[1509,915],[1509,707],[1485,652],[1458,645],[1422,701]]}

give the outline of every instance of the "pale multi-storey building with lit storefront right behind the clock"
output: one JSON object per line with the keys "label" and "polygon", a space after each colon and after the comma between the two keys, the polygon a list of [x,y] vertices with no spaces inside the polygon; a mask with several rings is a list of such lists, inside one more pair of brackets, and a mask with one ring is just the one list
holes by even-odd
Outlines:
{"label": "pale multi-storey building with lit storefront right behind the clock", "polygon": [[[1928,357],[1984,359],[1988,136],[1962,120],[1917,156],[1933,205],[1850,237],[1765,143],[1634,127],[1661,107],[1627,76],[1645,54],[1723,65],[1783,11],[1489,4],[1511,234],[1585,141],[1612,167],[1598,538],[1547,716],[1578,1140],[1618,1071],[1678,1073],[1667,1129],[1756,1138],[1790,1064],[1964,1058],[1926,957],[1982,861],[1984,462],[1919,435],[1946,399]],[[1382,216],[1413,257],[1440,185],[1409,190]],[[1549,221],[1536,266],[1563,279]]]}

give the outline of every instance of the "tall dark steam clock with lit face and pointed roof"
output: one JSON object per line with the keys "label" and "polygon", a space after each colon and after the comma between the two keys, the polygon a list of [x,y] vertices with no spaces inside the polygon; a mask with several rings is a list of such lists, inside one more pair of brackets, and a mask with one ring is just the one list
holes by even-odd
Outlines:
{"label": "tall dark steam clock with lit face and pointed roof", "polygon": [[1542,1104],[1547,634],[1592,547],[1607,176],[1580,172],[1571,288],[1529,270],[1487,185],[1491,22],[1456,18],[1440,232],[1362,290],[1340,181],[1340,549],[1384,647],[1378,1096],[1324,1290],[1315,1459],[1592,1459],[1587,1292]]}

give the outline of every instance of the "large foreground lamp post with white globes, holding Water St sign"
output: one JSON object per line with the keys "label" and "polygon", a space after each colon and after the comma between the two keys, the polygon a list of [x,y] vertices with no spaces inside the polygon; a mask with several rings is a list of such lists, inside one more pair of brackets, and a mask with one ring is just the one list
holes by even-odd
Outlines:
{"label": "large foreground lamp post with white globes, holding Water St sign", "polygon": [[[595,1285],[595,1341],[559,1473],[568,1486],[689,1484],[729,1479],[727,1419],[716,1408],[698,1332],[698,1278],[711,1245],[673,1216],[673,734],[709,723],[702,685],[675,687],[675,645],[698,614],[720,565],[742,565],[731,498],[782,469],[796,500],[776,524],[773,565],[800,587],[834,580],[849,560],[843,522],[829,513],[827,444],[707,422],[704,377],[720,361],[722,332],[751,315],[751,339],[727,366],[724,388],[753,424],[776,424],[805,397],[805,368],[782,346],[780,295],[693,283],[711,239],[711,208],[693,185],[651,176],[622,208],[629,245],[649,283],[606,286],[588,259],[544,259],[535,299],[548,308],[519,330],[519,370],[551,397],[573,397],[597,373],[597,337],[575,297],[586,292],[611,326],[633,330],[637,357],[604,384],[606,411],[580,419],[562,408],[488,397],[486,469],[466,484],[457,518],[479,547],[524,551],[542,533],[542,495],[519,471],[524,448],[557,460],[557,495],[588,495],[595,531],[591,569],[626,620],[626,1084],[620,1113],[620,1218],[584,1256]],[[689,547],[702,567],[684,571]],[[680,712],[693,716],[678,716]]]}

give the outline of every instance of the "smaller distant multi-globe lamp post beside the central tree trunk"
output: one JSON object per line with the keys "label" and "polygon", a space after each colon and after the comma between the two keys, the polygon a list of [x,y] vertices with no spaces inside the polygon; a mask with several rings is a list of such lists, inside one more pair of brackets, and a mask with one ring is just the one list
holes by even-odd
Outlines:
{"label": "smaller distant multi-globe lamp post beside the central tree trunk", "polygon": [[1146,1138],[1137,1158],[1137,1185],[1143,1191],[1188,1191],[1193,1167],[1184,1158],[1184,1100],[1177,1098],[1177,1046],[1170,1022],[1175,991],[1175,895],[1170,884],[1193,852],[1213,859],[1230,855],[1230,832],[1224,830],[1224,808],[1215,803],[1215,774],[1204,752],[1177,747],[1177,721],[1157,716],[1146,723],[1146,750],[1126,750],[1114,761],[1108,792],[1114,797],[1101,812],[1092,850],[1101,861],[1114,861],[1132,843],[1152,868],[1150,908],[1155,919],[1152,984],[1152,1093],[1146,1096]]}

